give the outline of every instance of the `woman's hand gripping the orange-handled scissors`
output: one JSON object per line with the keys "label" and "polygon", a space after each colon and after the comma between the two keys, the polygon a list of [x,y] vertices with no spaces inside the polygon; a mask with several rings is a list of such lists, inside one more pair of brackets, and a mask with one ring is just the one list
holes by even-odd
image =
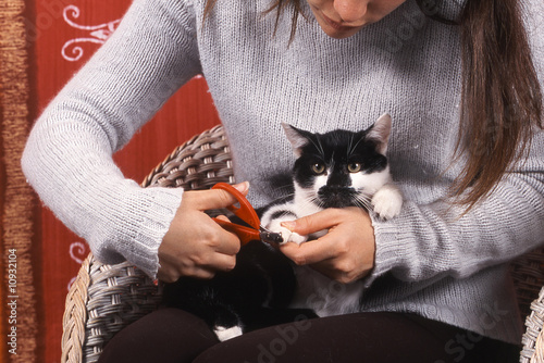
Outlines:
{"label": "woman's hand gripping the orange-handled scissors", "polygon": [[[249,184],[240,183],[234,187],[247,195]],[[212,278],[217,271],[234,268],[240,249],[238,237],[203,212],[234,203],[236,199],[222,189],[184,192],[159,247],[160,280],[174,283],[182,276]]]}

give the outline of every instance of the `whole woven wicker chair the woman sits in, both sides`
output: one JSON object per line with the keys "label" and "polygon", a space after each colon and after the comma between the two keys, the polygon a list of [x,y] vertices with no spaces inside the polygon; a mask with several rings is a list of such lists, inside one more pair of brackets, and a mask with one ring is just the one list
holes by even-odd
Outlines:
{"label": "whole woven wicker chair the woman sits in, both sides", "polygon": [[[190,190],[208,189],[219,182],[233,183],[234,178],[228,142],[223,128],[215,126],[176,148],[143,186]],[[541,249],[512,264],[520,310],[527,316],[523,363],[544,363],[543,263]],[[89,254],[66,297],[61,362],[96,362],[115,333],[156,310],[160,299],[160,286],[138,268],[127,262],[107,265]]]}

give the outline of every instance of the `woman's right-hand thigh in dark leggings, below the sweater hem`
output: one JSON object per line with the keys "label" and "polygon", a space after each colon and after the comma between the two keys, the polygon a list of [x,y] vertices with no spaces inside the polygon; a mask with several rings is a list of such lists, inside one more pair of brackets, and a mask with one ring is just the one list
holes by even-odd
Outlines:
{"label": "woman's right-hand thigh in dark leggings, below the sweater hem", "polygon": [[485,353],[495,345],[502,346],[411,314],[358,313],[256,330],[209,348],[194,362],[498,363]]}

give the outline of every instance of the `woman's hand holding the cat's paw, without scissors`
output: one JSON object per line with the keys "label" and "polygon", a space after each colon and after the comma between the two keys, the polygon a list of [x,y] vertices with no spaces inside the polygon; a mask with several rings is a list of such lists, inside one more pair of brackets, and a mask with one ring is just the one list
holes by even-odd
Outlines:
{"label": "woman's hand holding the cat's paw, without scissors", "polygon": [[297,265],[311,265],[344,284],[367,276],[374,266],[374,229],[370,216],[362,209],[326,209],[283,226],[299,235],[329,229],[319,239],[280,247]]}

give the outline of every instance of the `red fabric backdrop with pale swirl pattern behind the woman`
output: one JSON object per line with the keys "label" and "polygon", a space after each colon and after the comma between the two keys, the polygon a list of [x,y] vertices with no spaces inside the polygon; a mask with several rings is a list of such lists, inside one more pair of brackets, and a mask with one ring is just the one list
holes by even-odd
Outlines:
{"label": "red fabric backdrop with pale swirl pattern behind the woman", "polygon": [[[35,38],[33,66],[36,67],[38,113],[111,34],[129,2],[36,1],[34,28],[29,26],[29,34]],[[64,54],[63,47],[67,47]],[[78,59],[70,59],[77,54],[74,47],[81,47]],[[127,177],[141,182],[175,146],[218,123],[205,79],[193,79],[115,155],[115,160]],[[59,362],[65,296],[88,248],[49,210],[41,208],[39,214],[40,251],[36,253],[39,254],[41,280],[36,283],[41,341],[38,361]]]}

